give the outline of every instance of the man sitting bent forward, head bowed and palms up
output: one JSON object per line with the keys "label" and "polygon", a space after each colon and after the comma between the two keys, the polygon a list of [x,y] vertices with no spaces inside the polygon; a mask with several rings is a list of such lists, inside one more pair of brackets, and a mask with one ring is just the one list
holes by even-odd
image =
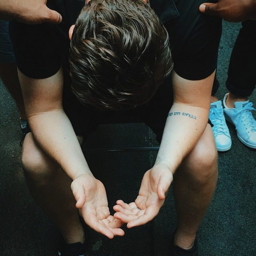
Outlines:
{"label": "man sitting bent forward, head bowed and palms up", "polygon": [[[12,22],[10,32],[32,131],[22,163],[31,194],[63,236],[58,255],[85,252],[76,207],[94,230],[123,236],[123,222],[131,228],[157,215],[174,173],[178,226],[172,255],[197,255],[196,230],[217,180],[207,121],[221,20],[200,14],[199,0],[151,0],[165,28],[141,0],[47,3],[61,14],[60,25]],[[118,200],[115,217],[79,145],[102,110],[140,115],[161,141],[138,198],[129,205]]]}

